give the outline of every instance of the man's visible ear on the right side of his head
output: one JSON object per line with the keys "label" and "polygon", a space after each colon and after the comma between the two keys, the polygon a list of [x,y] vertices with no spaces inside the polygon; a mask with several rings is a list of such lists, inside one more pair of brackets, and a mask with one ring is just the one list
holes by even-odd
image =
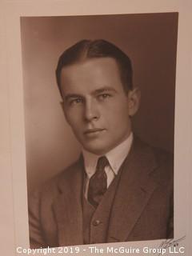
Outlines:
{"label": "man's visible ear on the right side of his head", "polygon": [[134,114],[138,111],[140,105],[141,91],[138,87],[135,87],[133,90],[129,90],[128,92],[128,107],[129,107],[129,115],[134,116]]}

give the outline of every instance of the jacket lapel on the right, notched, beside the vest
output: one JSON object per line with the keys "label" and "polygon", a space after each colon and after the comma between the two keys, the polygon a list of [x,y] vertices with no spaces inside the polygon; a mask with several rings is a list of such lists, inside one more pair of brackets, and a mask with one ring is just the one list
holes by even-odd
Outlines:
{"label": "jacket lapel on the right, notched, beside the vest", "polygon": [[134,138],[130,154],[122,165],[114,198],[107,242],[126,241],[157,184],[150,178],[156,166],[150,148]]}

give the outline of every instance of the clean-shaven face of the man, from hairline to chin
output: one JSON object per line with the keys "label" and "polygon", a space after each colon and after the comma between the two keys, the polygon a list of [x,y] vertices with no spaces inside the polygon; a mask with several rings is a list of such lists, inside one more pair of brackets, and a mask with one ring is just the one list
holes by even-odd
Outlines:
{"label": "clean-shaven face of the man, from hairline to chin", "polygon": [[64,67],[61,87],[66,120],[85,150],[106,154],[129,136],[129,93],[113,58]]}

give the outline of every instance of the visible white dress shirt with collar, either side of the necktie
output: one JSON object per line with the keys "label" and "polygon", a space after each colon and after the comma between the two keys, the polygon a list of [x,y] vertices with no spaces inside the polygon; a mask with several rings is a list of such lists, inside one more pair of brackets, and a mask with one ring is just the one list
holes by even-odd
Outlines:
{"label": "visible white dress shirt with collar, either side of the necktie", "polygon": [[[126,159],[126,156],[129,154],[132,142],[133,133],[131,132],[130,136],[126,138],[125,141],[123,141],[113,150],[110,150],[108,153],[105,154],[106,158],[110,163],[110,166],[105,167],[107,177],[107,188],[110,186],[110,183],[114,180],[115,175],[118,174],[118,170],[122,166],[122,162]],[[98,163],[98,158],[100,158],[101,156],[97,154],[92,154],[84,149],[82,149],[82,154],[86,170],[86,187],[84,193],[85,197],[87,198],[90,177],[94,175]]]}

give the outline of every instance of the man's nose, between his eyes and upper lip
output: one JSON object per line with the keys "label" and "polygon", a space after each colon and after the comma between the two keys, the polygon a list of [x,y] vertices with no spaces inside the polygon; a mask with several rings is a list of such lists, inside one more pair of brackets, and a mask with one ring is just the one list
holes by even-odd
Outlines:
{"label": "man's nose, between his eyes and upper lip", "polygon": [[90,122],[92,120],[96,120],[100,117],[100,113],[98,110],[98,106],[96,102],[87,101],[85,104],[85,119]]}

